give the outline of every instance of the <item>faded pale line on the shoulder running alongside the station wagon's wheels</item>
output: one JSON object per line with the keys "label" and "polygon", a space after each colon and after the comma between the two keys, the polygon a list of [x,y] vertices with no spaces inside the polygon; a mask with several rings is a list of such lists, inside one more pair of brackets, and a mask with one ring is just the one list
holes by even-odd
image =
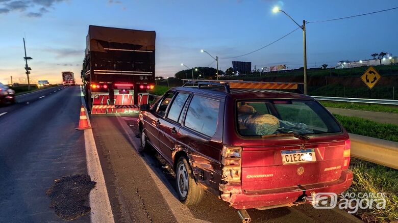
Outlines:
{"label": "faded pale line on the shoulder running alongside the station wagon's wheels", "polygon": [[[135,142],[135,139],[131,137],[131,135],[135,135],[133,131],[127,126],[127,123],[123,121],[119,114],[115,114],[117,117],[117,121],[119,122],[120,126],[126,133],[126,136],[129,138],[130,143],[133,147],[137,150],[139,142]],[[91,130],[91,129],[90,129]],[[138,139],[137,139],[138,140]],[[138,151],[137,151],[138,155]],[[158,187],[159,191],[162,192],[163,198],[166,201],[167,205],[169,206],[172,214],[176,217],[178,222],[203,222],[207,223],[209,221],[198,219],[191,211],[188,209],[187,206],[183,205],[179,200],[177,200],[177,194],[173,195],[172,192],[174,191],[172,185],[170,185],[164,175],[157,175],[152,168],[147,164],[147,161],[144,159],[144,165],[148,172],[151,174],[152,179],[155,181],[156,186]],[[162,178],[162,179],[160,179]],[[210,223],[210,222],[209,222]]]}

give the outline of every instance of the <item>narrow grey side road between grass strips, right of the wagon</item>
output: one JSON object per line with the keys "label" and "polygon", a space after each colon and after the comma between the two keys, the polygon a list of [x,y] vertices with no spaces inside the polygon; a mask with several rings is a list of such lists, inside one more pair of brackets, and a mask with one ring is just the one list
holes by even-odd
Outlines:
{"label": "narrow grey side road between grass strips, right of the wagon", "polygon": [[370,119],[375,122],[398,125],[398,114],[394,113],[381,113],[377,111],[352,110],[352,109],[333,108],[333,107],[327,107],[327,109],[330,111],[330,113],[333,114],[359,117],[363,119]]}

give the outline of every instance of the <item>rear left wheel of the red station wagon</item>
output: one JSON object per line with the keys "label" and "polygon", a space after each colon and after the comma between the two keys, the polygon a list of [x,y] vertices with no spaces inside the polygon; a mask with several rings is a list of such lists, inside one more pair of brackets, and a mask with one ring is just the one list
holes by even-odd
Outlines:
{"label": "rear left wheel of the red station wagon", "polygon": [[185,157],[180,157],[177,162],[176,188],[179,200],[186,206],[199,204],[205,194],[205,190],[197,185]]}

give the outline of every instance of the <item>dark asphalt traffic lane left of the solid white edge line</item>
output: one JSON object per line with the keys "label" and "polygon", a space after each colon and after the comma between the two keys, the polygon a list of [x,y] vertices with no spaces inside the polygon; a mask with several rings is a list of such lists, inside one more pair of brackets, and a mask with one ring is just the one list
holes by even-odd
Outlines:
{"label": "dark asphalt traffic lane left of the solid white edge line", "polygon": [[84,133],[74,129],[80,105],[79,87],[60,86],[0,107],[0,222],[64,221],[46,190],[63,176],[87,174]]}

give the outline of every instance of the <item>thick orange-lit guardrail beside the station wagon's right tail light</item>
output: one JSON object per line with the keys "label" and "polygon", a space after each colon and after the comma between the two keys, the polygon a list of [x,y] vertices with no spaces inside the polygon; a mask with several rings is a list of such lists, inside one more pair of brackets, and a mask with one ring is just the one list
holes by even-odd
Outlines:
{"label": "thick orange-lit guardrail beside the station wagon's right tail light", "polygon": [[351,134],[351,156],[398,169],[398,143]]}

